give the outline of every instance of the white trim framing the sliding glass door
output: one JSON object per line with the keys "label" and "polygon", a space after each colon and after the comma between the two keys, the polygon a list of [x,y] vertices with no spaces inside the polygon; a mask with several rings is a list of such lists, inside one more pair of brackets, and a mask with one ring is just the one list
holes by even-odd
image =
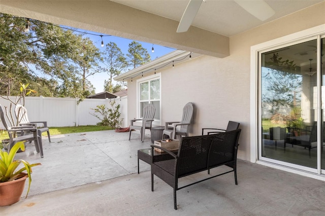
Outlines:
{"label": "white trim framing the sliding glass door", "polygon": [[[250,49],[250,162],[263,164],[269,167],[281,169],[288,172],[293,172],[296,174],[325,180],[324,175],[319,175],[315,173],[309,173],[306,171],[293,169],[273,163],[258,161],[258,137],[261,137],[262,129],[257,128],[258,125],[258,65],[261,62],[258,62],[258,53],[273,47],[284,46],[295,41],[301,41],[304,39],[316,37],[320,34],[325,34],[325,24],[318,25],[309,29],[305,29],[293,34],[286,35],[284,37],[274,39],[268,42],[257,44],[251,46]],[[256,133],[258,129],[258,133]]]}

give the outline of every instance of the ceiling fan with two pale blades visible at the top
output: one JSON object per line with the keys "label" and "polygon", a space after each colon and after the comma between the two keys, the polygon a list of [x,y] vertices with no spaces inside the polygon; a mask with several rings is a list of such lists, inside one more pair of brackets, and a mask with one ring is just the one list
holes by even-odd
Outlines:
{"label": "ceiling fan with two pale blades visible at the top", "polygon": [[[243,9],[245,9],[248,13],[262,21],[270,18],[275,14],[275,11],[264,0],[234,1]],[[188,30],[189,26],[192,24],[192,21],[197,15],[202,2],[205,2],[205,0],[189,0],[176,32],[185,32]]]}

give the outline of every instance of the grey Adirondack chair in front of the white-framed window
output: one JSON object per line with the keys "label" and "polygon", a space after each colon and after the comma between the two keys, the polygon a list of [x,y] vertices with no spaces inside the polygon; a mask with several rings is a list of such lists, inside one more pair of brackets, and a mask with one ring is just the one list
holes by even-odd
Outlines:
{"label": "grey Adirondack chair in front of the white-framed window", "polygon": [[[153,104],[148,104],[143,108],[143,118],[142,119],[132,119],[130,120],[130,132],[128,140],[131,139],[132,130],[140,130],[141,141],[144,140],[144,133],[146,129],[151,130],[151,125],[153,122],[154,113],[156,112],[156,108]],[[136,121],[142,121],[141,126],[133,125]]]}

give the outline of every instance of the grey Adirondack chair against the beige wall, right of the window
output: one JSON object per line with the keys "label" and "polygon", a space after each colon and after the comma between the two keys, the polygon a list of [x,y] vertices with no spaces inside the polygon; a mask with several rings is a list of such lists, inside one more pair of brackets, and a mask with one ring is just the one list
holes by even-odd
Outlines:
{"label": "grey Adirondack chair against the beige wall, right of the window", "polygon": [[193,116],[193,103],[188,102],[183,107],[183,116],[180,122],[165,122],[165,130],[163,131],[164,135],[168,135],[170,138],[175,139],[177,136],[188,136],[188,126],[191,123]]}

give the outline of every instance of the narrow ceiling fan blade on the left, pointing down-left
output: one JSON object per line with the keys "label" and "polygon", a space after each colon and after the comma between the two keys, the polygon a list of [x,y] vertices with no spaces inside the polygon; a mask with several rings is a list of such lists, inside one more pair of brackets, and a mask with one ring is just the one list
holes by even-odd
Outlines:
{"label": "narrow ceiling fan blade on the left, pointing down-left", "polygon": [[197,15],[203,0],[190,0],[184,13],[179,21],[178,28],[176,32],[185,32],[188,30],[189,26],[192,24],[193,19]]}

